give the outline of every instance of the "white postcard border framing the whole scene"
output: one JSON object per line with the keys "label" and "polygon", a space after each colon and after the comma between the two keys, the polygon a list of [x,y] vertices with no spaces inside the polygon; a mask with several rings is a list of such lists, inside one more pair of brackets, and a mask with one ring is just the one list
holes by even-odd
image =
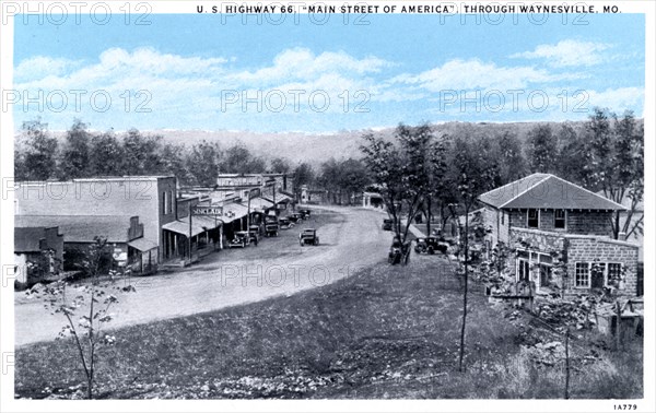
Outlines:
{"label": "white postcard border framing the whole scene", "polygon": [[[46,1],[45,3],[51,3],[54,1]],[[137,2],[132,1],[132,5]],[[272,1],[273,3],[276,1]],[[525,1],[524,3],[529,3]],[[8,2],[2,2],[4,7]],[[23,1],[16,2],[22,4]],[[36,3],[36,2],[31,2]],[[93,4],[93,1],[86,2]],[[126,1],[105,1],[109,4],[113,10],[120,13],[119,8],[122,7]],[[152,7],[152,13],[196,13],[197,4],[221,4],[221,3],[244,3],[244,1],[148,1]],[[255,2],[257,3],[257,2]],[[266,2],[262,2],[266,3]],[[278,1],[276,3],[286,3],[284,1]],[[294,3],[290,1],[289,3]],[[295,2],[298,3],[298,2]],[[311,3],[311,2],[306,2]],[[331,3],[341,5],[345,1],[324,1],[324,3]],[[362,1],[350,1],[350,3],[363,3]],[[393,4],[393,1],[370,1],[367,4]],[[401,1],[397,1],[400,4]],[[432,1],[403,1],[403,4],[435,4]],[[480,2],[457,2],[446,1],[442,3],[467,3],[477,4],[484,3]],[[499,2],[503,3],[503,2]],[[507,3],[513,3],[508,1]],[[514,2],[518,3],[518,2]],[[604,4],[607,5],[619,5],[624,13],[645,13],[646,14],[646,47],[645,47],[645,205],[649,210],[649,213],[645,217],[645,237],[644,248],[645,251],[654,251],[656,246],[654,245],[653,235],[655,234],[654,220],[651,215],[651,211],[656,205],[655,191],[656,186],[654,185],[655,162],[656,153],[654,152],[655,128],[654,128],[654,115],[656,114],[655,105],[655,83],[654,78],[656,73],[656,67],[654,64],[654,50],[656,50],[656,34],[655,34],[655,10],[656,2],[645,1],[542,1],[541,3],[558,3],[558,4],[595,4],[596,8],[601,9]],[[13,22],[10,20],[8,25],[3,25],[0,28],[2,35],[0,36],[0,83],[2,88],[11,88],[12,84],[12,67],[13,67]],[[74,47],[73,45],[71,47]],[[2,177],[13,176],[13,115],[10,111],[0,113],[0,125],[2,140],[0,143],[1,149],[1,163],[0,170]],[[13,201],[5,199],[5,189],[8,185],[8,178],[3,178],[2,191],[3,199],[0,204],[0,216],[1,216],[1,244],[2,250],[0,252],[1,262],[12,263],[13,255],[10,251],[10,245],[13,245]],[[367,400],[367,401],[271,401],[271,400],[255,400],[255,401],[233,401],[233,400],[221,400],[221,401],[25,401],[25,400],[13,400],[13,369],[10,369],[9,375],[0,375],[0,411],[2,412],[35,412],[35,411],[49,411],[49,412],[86,412],[86,411],[98,411],[98,412],[114,412],[114,411],[144,411],[144,412],[177,412],[177,411],[198,411],[198,412],[210,412],[210,411],[237,411],[237,412],[251,412],[251,411],[276,411],[276,412],[331,412],[331,411],[362,411],[362,412],[397,412],[397,411],[413,411],[413,412],[431,412],[431,411],[487,411],[487,412],[610,412],[613,411],[613,404],[619,403],[636,403],[639,411],[642,412],[654,412],[656,411],[655,396],[653,390],[656,388],[654,379],[654,349],[656,349],[654,341],[654,328],[655,328],[655,306],[654,298],[656,298],[654,274],[656,274],[654,267],[654,256],[645,253],[645,292],[648,299],[645,300],[645,374],[644,374],[644,396],[645,399],[629,401],[629,400],[427,400],[427,401],[403,401],[403,400]],[[12,288],[2,287],[0,288],[0,353],[13,352],[14,333],[13,333],[13,291]]]}

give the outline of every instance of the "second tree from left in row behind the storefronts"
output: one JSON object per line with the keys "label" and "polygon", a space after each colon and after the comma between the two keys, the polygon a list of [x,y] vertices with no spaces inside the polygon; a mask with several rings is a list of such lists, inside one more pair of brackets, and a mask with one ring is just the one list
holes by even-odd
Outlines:
{"label": "second tree from left in row behind the storefronts", "polygon": [[90,169],[89,146],[91,134],[87,125],[75,119],[66,133],[66,144],[62,149],[59,165],[60,178],[63,180],[87,177]]}

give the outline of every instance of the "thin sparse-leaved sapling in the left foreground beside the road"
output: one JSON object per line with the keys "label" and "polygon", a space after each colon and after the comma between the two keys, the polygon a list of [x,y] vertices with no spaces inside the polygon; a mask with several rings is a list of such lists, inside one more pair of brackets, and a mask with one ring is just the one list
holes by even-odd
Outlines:
{"label": "thin sparse-leaved sapling in the left foreground beside the road", "polygon": [[[114,275],[117,275],[117,272],[109,274],[109,281],[101,280],[102,261],[109,245],[106,238],[95,237],[94,239],[95,243],[90,246],[84,262],[91,279],[90,283],[83,286],[82,292],[70,299],[66,294],[66,281],[49,284],[44,290],[44,296],[51,314],[61,314],[67,320],[57,339],[65,340],[67,337],[72,339],[70,343],[75,347],[80,357],[79,361],[86,378],[86,398],[90,400],[94,396],[98,353],[103,346],[112,345],[116,341],[115,337],[103,333],[103,327],[114,318],[109,309],[118,303],[117,297],[108,292],[110,290],[136,291],[131,285],[116,286]],[[84,308],[85,306],[89,308]],[[79,316],[80,318],[78,318]]]}

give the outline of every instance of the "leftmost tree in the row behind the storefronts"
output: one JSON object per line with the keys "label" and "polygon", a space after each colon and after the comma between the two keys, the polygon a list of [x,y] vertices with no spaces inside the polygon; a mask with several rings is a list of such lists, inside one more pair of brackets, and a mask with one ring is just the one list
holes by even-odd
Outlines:
{"label": "leftmost tree in the row behind the storefronts", "polygon": [[27,180],[54,178],[57,172],[57,139],[48,135],[48,125],[39,119],[23,122],[26,151],[20,158],[19,172]]}

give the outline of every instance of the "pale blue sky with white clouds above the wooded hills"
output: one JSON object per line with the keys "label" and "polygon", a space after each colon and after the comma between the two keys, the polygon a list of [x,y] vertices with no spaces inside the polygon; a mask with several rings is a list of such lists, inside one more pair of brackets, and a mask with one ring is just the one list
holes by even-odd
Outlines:
{"label": "pale blue sky with white clouds above the wooded hills", "polygon": [[98,130],[331,132],[576,120],[594,106],[643,115],[644,15],[587,15],[587,25],[560,15],[542,25],[526,15],[497,25],[402,14],[368,15],[368,25],[338,14],[324,25],[307,15],[280,25],[149,19],[55,26],[16,16],[16,128],[37,116],[51,129],[80,118]]}

